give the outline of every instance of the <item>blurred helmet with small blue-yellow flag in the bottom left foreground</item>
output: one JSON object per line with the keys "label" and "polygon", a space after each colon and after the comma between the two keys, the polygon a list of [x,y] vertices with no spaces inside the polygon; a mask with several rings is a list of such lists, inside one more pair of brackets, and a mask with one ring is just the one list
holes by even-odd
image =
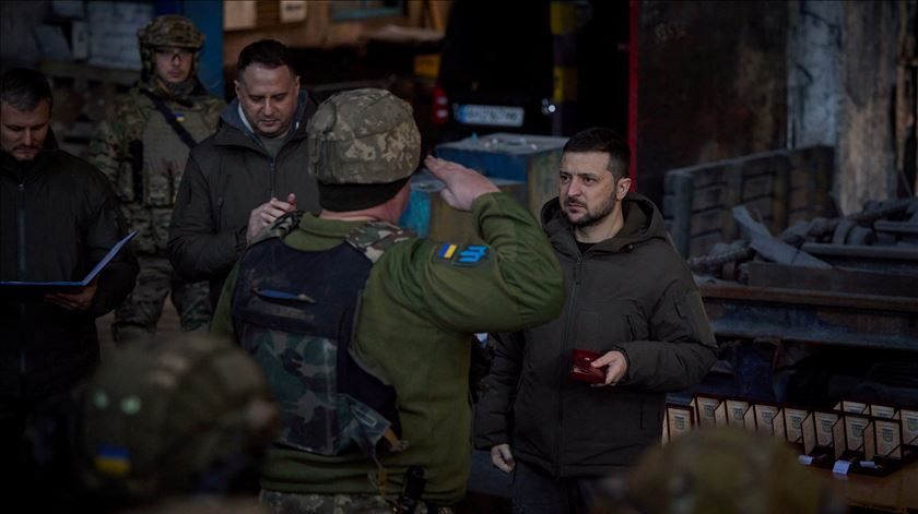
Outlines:
{"label": "blurred helmet with small blue-yellow flag in the bottom left foreground", "polygon": [[269,387],[249,356],[222,340],[161,336],[116,348],[78,403],[83,485],[98,498],[143,502],[250,473],[280,423]]}

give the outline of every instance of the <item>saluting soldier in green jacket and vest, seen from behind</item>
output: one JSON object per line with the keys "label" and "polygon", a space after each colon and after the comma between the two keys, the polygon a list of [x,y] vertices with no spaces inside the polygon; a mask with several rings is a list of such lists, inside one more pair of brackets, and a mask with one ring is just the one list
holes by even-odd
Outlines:
{"label": "saluting soldier in green jacket and vest, seen from behind", "polygon": [[521,205],[435,157],[424,164],[444,200],[472,213],[483,243],[396,226],[421,138],[411,107],[386,91],[332,96],[307,141],[321,213],[289,214],[255,239],[211,326],[255,357],[283,413],[261,501],[275,512],[448,511],[471,465],[471,334],[556,316],[557,261]]}

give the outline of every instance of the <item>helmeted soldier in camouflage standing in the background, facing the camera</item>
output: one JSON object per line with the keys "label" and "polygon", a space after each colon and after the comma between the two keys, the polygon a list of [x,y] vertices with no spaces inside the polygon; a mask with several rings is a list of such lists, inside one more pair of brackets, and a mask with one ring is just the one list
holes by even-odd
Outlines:
{"label": "helmeted soldier in camouflage standing in the background, facing the camera", "polygon": [[140,275],[115,313],[111,332],[118,343],[155,333],[169,291],[183,330],[210,321],[207,283],[178,279],[166,242],[188,152],[216,130],[225,106],[198,79],[204,36],[190,20],[158,16],[138,31],[138,43],[141,80],[115,100],[90,144],[90,160],[108,176],[128,226],[138,231]]}

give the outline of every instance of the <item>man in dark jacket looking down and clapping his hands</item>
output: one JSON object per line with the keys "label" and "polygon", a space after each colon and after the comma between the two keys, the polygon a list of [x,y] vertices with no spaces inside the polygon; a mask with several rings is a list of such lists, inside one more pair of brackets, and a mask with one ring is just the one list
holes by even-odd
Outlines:
{"label": "man in dark jacket looking down and clapping his hands", "polygon": [[247,241],[289,212],[319,212],[306,171],[306,121],[316,103],[299,88],[290,50],[275,40],[239,53],[236,99],[216,133],[191,151],[169,228],[169,260],[188,280],[210,280],[215,307]]}

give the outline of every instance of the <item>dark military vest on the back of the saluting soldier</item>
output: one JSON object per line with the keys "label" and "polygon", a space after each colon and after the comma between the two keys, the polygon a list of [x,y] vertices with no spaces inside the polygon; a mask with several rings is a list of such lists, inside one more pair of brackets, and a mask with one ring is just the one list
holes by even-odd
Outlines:
{"label": "dark military vest on the back of the saluting soldier", "polygon": [[243,347],[262,367],[284,417],[279,443],[322,455],[398,451],[395,390],[349,348],[373,264],[407,232],[366,224],[326,251],[283,243],[302,213],[281,218],[243,256],[232,297]]}

